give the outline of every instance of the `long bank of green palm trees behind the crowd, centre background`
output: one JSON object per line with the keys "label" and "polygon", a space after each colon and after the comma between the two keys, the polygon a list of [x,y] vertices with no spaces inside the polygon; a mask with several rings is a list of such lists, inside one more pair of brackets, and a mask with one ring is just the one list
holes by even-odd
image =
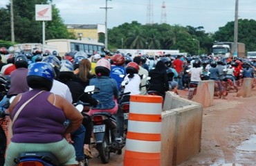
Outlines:
{"label": "long bank of green palm trees behind the crowd, centre background", "polygon": [[205,33],[202,26],[141,25],[132,21],[131,24],[122,24],[108,32],[110,48],[122,48],[123,39],[123,48],[173,49],[197,55],[198,43],[193,38],[200,41],[200,53],[208,53],[212,47],[212,36]]}

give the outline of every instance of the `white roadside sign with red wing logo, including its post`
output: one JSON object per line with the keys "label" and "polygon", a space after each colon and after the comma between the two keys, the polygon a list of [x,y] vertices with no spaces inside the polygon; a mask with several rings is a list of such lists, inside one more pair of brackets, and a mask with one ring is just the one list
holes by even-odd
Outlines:
{"label": "white roadside sign with red wing logo, including its post", "polygon": [[52,6],[51,5],[35,5],[35,20],[36,21],[43,21],[43,28],[42,28],[42,39],[43,39],[43,46],[42,51],[44,53],[44,45],[45,45],[45,21],[52,20]]}

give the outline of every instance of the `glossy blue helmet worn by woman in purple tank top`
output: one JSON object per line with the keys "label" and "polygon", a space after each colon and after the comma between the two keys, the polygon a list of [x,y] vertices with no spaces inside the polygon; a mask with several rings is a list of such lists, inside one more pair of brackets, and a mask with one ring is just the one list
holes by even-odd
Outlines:
{"label": "glossy blue helmet worn by woman in purple tank top", "polygon": [[32,89],[46,89],[51,91],[55,71],[51,64],[37,62],[30,64],[28,68],[27,82]]}

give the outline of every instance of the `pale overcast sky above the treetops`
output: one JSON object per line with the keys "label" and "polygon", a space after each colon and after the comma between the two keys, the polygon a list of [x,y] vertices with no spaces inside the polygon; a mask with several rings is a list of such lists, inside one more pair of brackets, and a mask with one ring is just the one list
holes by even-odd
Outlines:
{"label": "pale overcast sky above the treetops", "polygon": [[[150,0],[154,23],[161,23],[163,0]],[[9,0],[0,0],[4,7]],[[106,0],[53,0],[65,24],[104,24]],[[108,28],[125,22],[146,24],[149,0],[107,1]],[[167,24],[203,26],[205,32],[214,32],[228,21],[235,20],[235,0],[165,0]],[[256,0],[239,1],[239,19],[256,20]]]}

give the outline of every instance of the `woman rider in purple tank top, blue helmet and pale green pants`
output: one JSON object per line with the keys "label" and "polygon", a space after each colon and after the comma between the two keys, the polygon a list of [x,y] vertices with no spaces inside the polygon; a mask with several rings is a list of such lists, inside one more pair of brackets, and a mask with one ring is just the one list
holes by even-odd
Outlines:
{"label": "woman rider in purple tank top, blue helmet and pale green pants", "polygon": [[[27,81],[33,90],[15,97],[9,107],[10,118],[13,120],[19,107],[35,94],[38,95],[26,104],[12,123],[13,136],[6,151],[6,165],[17,165],[14,159],[19,158],[24,151],[50,151],[60,165],[77,165],[75,150],[69,144],[71,140],[68,134],[80,127],[83,117],[70,102],[49,92],[54,77],[55,72],[50,64],[31,64]],[[65,129],[66,119],[71,124]]]}

